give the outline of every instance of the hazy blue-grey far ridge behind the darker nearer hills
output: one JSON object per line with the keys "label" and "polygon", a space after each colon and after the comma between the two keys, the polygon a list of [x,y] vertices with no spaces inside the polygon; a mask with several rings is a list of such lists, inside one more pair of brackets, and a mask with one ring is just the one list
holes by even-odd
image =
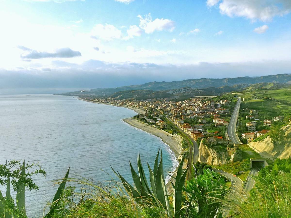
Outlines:
{"label": "hazy blue-grey far ridge behind the darker nearer hills", "polygon": [[[66,92],[62,95],[71,95],[71,96],[81,96],[81,95],[94,95],[98,97],[108,97],[115,92],[126,91],[126,90],[153,90],[153,91],[162,91],[162,90],[176,90],[181,88],[192,88],[192,89],[207,89],[209,87],[219,88],[219,87],[232,87],[233,90],[239,90],[245,87],[248,87],[251,84],[256,83],[286,83],[291,84],[291,75],[289,74],[277,74],[269,76],[260,76],[260,77],[236,77],[236,78],[222,78],[222,79],[209,79],[209,78],[200,78],[200,79],[188,79],[183,81],[173,81],[173,82],[150,82],[144,83],[141,85],[129,85],[122,86],[117,88],[97,88],[86,90],[84,92]],[[207,91],[207,90],[204,90]],[[214,91],[216,92],[216,91]],[[224,91],[227,92],[227,91]]]}

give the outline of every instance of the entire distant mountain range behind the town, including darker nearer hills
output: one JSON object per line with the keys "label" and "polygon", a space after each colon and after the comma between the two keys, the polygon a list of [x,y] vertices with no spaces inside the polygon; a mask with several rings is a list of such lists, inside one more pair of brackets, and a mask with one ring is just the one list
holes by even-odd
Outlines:
{"label": "entire distant mountain range behind the town, including darker nearer hills", "polygon": [[129,85],[117,88],[97,88],[82,92],[66,92],[61,95],[110,97],[114,99],[135,98],[137,100],[174,96],[186,98],[187,96],[217,95],[223,92],[233,92],[257,83],[265,83],[262,86],[267,85],[266,83],[273,83],[273,85],[276,83],[291,84],[291,75],[277,74],[260,77],[201,78],[174,82],[150,82],[142,85]]}

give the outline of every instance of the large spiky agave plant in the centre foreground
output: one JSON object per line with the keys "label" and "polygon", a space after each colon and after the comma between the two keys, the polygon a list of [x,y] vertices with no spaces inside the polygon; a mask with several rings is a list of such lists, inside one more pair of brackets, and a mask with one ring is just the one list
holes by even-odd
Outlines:
{"label": "large spiky agave plant in the centre foreground", "polygon": [[[161,152],[160,156],[159,153]],[[159,160],[160,157],[160,161]],[[182,188],[185,183],[185,178],[187,174],[187,169],[183,172],[182,167],[184,163],[184,156],[182,157],[182,161],[179,164],[177,176],[175,178],[175,184],[171,184],[174,188],[173,194],[173,207],[174,212],[172,213],[170,202],[169,202],[169,195],[166,189],[164,171],[163,171],[163,156],[162,156],[162,149],[159,149],[153,170],[150,168],[148,164],[148,170],[150,173],[150,186],[148,185],[147,179],[145,177],[145,173],[143,170],[143,166],[141,164],[141,157],[140,154],[137,156],[137,165],[138,165],[138,172],[136,173],[134,168],[132,167],[131,162],[129,161],[132,179],[134,181],[134,187],[128,183],[123,176],[119,174],[119,172],[115,171],[112,167],[111,169],[113,172],[120,178],[126,192],[134,198],[134,200],[138,203],[148,202],[148,200],[152,200],[153,203],[157,205],[161,205],[168,213],[168,216],[180,217],[180,213],[182,210],[187,207],[182,207]],[[174,178],[174,177],[173,177]],[[188,205],[189,206],[189,205]]]}

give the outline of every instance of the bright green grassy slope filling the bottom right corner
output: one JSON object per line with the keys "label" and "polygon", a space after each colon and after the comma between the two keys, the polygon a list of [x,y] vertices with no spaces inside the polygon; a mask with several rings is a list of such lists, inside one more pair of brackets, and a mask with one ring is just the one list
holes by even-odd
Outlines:
{"label": "bright green grassy slope filling the bottom right corner", "polygon": [[[270,171],[272,169],[272,171]],[[251,196],[237,207],[234,217],[290,217],[291,216],[291,160],[276,159],[265,167],[255,179]]]}

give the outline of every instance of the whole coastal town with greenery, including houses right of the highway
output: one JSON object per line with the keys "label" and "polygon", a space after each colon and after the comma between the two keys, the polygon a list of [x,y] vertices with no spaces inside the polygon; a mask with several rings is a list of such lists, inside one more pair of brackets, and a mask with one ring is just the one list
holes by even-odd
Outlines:
{"label": "whole coastal town with greenery, including houses right of the highway", "polygon": [[[184,131],[187,136],[200,143],[202,139],[208,144],[234,144],[227,137],[227,126],[229,124],[232,98],[219,96],[193,97],[184,101],[175,99],[146,99],[138,101],[134,99],[90,99],[99,103],[111,105],[130,106],[141,108],[146,113],[137,115],[136,118],[155,128],[163,129],[169,133],[175,133],[173,124]],[[89,100],[89,99],[88,99]],[[230,110],[231,109],[231,110]],[[273,122],[283,121],[283,116],[270,119],[258,119],[258,111],[247,109],[245,115],[244,132],[239,134],[240,140],[246,144],[269,132]],[[263,123],[262,125],[256,125]],[[258,129],[258,127],[260,129]]]}

